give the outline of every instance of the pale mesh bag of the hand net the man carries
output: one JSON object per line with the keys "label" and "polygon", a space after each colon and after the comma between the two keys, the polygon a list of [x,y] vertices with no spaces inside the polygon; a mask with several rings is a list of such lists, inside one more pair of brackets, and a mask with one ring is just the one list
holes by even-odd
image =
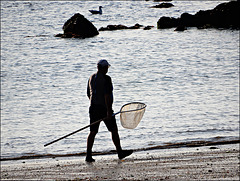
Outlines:
{"label": "pale mesh bag of the hand net the man carries", "polygon": [[141,121],[146,109],[146,104],[133,102],[122,106],[120,121],[124,128],[134,129]]}

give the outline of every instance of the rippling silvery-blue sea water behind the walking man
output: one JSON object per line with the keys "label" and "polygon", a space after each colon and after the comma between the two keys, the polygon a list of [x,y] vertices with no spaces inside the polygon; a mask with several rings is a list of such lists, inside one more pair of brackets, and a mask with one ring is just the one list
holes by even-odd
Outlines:
{"label": "rippling silvery-blue sea water behind the walking man", "polygon": [[[86,151],[89,124],[86,86],[99,59],[112,67],[114,110],[140,101],[147,110],[133,130],[119,125],[125,149],[239,135],[239,31],[158,30],[161,16],[212,9],[222,1],[1,1],[1,156]],[[89,9],[103,6],[102,15]],[[63,24],[83,14],[98,29],[109,24],[153,25],[149,31],[100,32],[61,39]],[[93,151],[113,150],[104,124]]]}

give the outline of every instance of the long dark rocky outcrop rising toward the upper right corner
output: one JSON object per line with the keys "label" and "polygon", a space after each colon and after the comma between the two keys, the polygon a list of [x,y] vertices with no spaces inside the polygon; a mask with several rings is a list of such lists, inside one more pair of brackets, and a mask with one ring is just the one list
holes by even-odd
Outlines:
{"label": "long dark rocky outcrop rising toward the upper right corner", "polygon": [[[198,28],[240,28],[240,1],[221,3],[212,10],[200,10],[195,15],[183,13],[180,18],[161,17],[157,22],[158,29],[173,27]],[[182,29],[182,28],[181,28]]]}

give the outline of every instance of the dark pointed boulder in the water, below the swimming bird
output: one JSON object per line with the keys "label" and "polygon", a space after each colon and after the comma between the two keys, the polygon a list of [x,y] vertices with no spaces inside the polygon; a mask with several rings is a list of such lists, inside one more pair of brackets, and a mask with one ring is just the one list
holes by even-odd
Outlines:
{"label": "dark pointed boulder in the water, below the swimming bird", "polygon": [[63,34],[56,37],[62,38],[89,38],[99,34],[97,28],[83,15],[76,13],[63,25]]}

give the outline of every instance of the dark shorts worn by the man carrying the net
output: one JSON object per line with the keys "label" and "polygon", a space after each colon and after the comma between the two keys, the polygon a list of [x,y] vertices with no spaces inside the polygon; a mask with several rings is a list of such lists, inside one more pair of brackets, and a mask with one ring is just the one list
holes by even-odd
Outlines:
{"label": "dark shorts worn by the man carrying the net", "polygon": [[[107,109],[101,105],[91,105],[89,107],[89,116],[90,124],[92,124],[95,121],[107,117]],[[111,120],[105,120],[104,123],[107,126],[108,131],[112,132],[118,130],[115,116],[112,116]],[[99,125],[100,122],[90,126],[90,131],[98,132]]]}

